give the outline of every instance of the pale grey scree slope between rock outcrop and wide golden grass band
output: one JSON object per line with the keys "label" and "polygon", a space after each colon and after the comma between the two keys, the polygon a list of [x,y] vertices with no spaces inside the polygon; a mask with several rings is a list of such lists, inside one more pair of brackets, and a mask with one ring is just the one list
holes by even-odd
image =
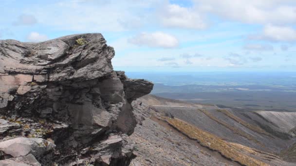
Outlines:
{"label": "pale grey scree slope between rock outcrop and wide golden grass band", "polygon": [[[160,125],[156,119],[150,119],[151,114],[143,106],[145,104],[141,107],[136,106],[136,101],[133,104],[139,124],[129,136],[129,142],[135,144],[134,153],[137,155],[130,166],[225,166],[207,149],[199,148],[196,141],[178,134],[168,125]],[[225,159],[223,161],[231,163]]]}

